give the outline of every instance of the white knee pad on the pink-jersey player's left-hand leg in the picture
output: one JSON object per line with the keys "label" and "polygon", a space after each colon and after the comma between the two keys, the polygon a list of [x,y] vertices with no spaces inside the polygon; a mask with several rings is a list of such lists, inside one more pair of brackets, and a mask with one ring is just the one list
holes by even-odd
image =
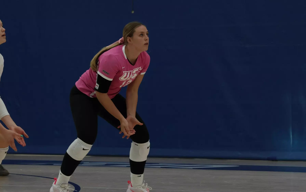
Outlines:
{"label": "white knee pad on the pink-jersey player's left-hand leg in the picture", "polygon": [[92,145],[89,145],[81,139],[77,138],[68,147],[67,153],[76,161],[82,161],[90,151],[91,147]]}

